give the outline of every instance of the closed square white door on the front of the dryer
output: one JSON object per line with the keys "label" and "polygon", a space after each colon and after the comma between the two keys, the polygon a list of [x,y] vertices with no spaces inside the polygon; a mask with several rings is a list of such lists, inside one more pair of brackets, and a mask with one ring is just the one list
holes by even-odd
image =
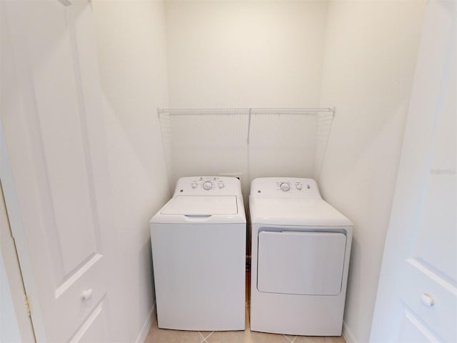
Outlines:
{"label": "closed square white door on the front of the dryer", "polygon": [[341,292],[346,235],[339,232],[258,234],[259,292],[338,295]]}

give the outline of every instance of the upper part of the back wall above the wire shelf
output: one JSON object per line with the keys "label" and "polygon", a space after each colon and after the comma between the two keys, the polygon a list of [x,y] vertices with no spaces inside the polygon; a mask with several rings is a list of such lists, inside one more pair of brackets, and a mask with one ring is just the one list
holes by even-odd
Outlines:
{"label": "upper part of the back wall above the wire shelf", "polygon": [[326,7],[326,1],[166,1],[170,106],[316,106]]}

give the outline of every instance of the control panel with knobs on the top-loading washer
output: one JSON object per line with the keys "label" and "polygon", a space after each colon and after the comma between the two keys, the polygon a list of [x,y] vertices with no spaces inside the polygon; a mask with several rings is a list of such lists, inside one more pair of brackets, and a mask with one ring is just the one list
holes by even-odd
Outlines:
{"label": "control panel with knobs on the top-loading washer", "polygon": [[236,177],[181,177],[174,195],[237,195],[241,184]]}

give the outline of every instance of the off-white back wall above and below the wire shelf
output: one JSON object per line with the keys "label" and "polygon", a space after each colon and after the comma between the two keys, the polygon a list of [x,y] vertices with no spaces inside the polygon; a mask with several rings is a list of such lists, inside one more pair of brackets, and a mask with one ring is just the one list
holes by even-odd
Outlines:
{"label": "off-white back wall above and below the wire shelf", "polygon": [[[166,1],[170,107],[317,106],[326,9],[326,1]],[[171,183],[241,173],[246,195],[255,177],[313,177],[315,118],[258,114],[248,124],[246,113],[166,121]]]}

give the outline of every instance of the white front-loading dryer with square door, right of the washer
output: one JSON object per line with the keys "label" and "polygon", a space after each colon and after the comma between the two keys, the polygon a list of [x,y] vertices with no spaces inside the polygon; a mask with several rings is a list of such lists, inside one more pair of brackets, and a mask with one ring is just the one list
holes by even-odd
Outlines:
{"label": "white front-loading dryer with square door, right of the washer", "polygon": [[313,179],[251,183],[251,330],[340,336],[353,224]]}

